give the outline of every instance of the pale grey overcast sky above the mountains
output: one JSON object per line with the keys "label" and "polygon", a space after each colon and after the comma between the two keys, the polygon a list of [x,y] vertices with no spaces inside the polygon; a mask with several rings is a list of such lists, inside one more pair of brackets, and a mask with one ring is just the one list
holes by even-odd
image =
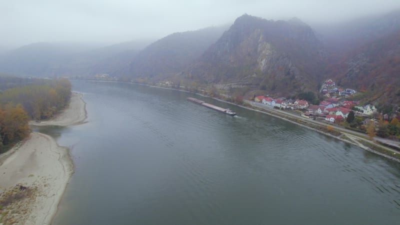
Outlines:
{"label": "pale grey overcast sky above the mountains", "polygon": [[400,8],[400,0],[0,0],[0,46],[115,43],[231,23],[244,13],[307,23]]}

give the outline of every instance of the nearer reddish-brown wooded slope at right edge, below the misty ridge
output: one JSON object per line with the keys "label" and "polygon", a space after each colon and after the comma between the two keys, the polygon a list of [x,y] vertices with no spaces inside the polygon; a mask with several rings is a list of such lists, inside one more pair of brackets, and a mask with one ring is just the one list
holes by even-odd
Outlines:
{"label": "nearer reddish-brown wooded slope at right edge, below the misty ridge", "polygon": [[343,53],[326,67],[324,76],[359,90],[364,102],[399,104],[400,20],[395,24],[397,30]]}

